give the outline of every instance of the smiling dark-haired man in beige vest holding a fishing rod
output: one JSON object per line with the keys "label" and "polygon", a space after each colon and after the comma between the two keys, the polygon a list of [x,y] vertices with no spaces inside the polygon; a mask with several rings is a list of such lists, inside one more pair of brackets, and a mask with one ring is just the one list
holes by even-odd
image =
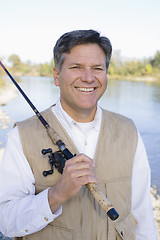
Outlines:
{"label": "smiling dark-haired man in beige vest holding a fishing rod", "polygon": [[[44,177],[43,148],[57,151],[34,116],[11,131],[0,172],[0,230],[23,239],[157,239],[150,169],[133,122],[101,109],[112,47],[93,30],[64,34],[54,47],[60,99],[42,115],[76,154]],[[2,183],[3,182],[3,183]],[[87,183],[96,183],[119,213],[108,219]]]}

